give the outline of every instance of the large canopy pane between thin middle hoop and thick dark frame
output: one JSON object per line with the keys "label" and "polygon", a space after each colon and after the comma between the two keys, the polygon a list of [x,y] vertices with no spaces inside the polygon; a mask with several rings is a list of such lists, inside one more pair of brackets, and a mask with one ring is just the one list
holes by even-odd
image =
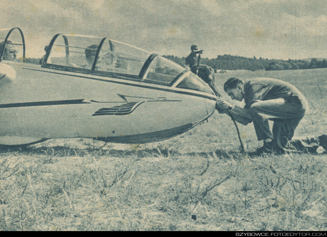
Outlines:
{"label": "large canopy pane between thin middle hoop and thick dark frame", "polygon": [[122,42],[106,39],[95,70],[137,76],[150,53]]}

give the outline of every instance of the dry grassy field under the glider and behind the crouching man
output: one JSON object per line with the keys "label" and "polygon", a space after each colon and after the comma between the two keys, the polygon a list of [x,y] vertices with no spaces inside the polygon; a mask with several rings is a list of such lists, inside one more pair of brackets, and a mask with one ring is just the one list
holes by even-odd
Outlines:
{"label": "dry grassy field under the glider and behind the crouching man", "polygon": [[[327,70],[229,71],[288,81],[327,134]],[[226,98],[227,99],[227,98]],[[239,125],[247,151],[261,145]],[[58,139],[0,150],[0,230],[327,230],[327,155],[240,154],[230,118],[152,144]]]}

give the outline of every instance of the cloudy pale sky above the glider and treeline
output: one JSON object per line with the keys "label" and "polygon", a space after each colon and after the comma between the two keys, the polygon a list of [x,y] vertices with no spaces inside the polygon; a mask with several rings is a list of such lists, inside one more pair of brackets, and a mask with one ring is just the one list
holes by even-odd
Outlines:
{"label": "cloudy pale sky above the glider and treeline", "polygon": [[55,34],[67,33],[178,57],[196,44],[209,59],[327,58],[327,0],[1,0],[0,6],[0,28],[22,29],[27,57],[42,57]]}

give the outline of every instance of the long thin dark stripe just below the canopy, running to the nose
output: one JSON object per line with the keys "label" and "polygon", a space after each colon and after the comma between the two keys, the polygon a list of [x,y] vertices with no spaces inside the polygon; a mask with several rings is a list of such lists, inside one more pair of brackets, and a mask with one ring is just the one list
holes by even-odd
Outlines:
{"label": "long thin dark stripe just below the canopy, running to the nose", "polygon": [[97,81],[106,81],[106,82],[112,82],[112,83],[122,84],[122,85],[126,85],[126,86],[135,86],[135,87],[142,87],[142,88],[146,88],[146,89],[154,89],[154,90],[166,91],[166,92],[172,92],[172,93],[178,93],[178,94],[192,95],[192,96],[206,98],[206,99],[210,99],[210,100],[214,100],[214,101],[217,100],[216,98],[211,97],[211,96],[196,94],[196,93],[192,93],[192,92],[175,91],[175,90],[172,90],[172,89],[165,89],[165,88],[159,88],[159,87],[153,87],[153,86],[146,86],[146,85],[137,85],[137,84],[132,84],[132,83],[128,83],[128,82],[113,81],[113,80],[101,79],[101,78],[95,78],[95,77],[89,77],[89,76],[71,75],[71,74],[67,74],[67,73],[49,72],[49,71],[38,70],[38,69],[31,69],[31,68],[24,68],[24,67],[23,67],[23,69],[33,70],[33,71],[40,71],[40,72],[46,72],[46,73],[54,73],[54,74],[66,75],[66,76],[75,76],[75,77],[81,77],[81,78],[86,78],[86,79],[91,79],[91,80],[97,80]]}

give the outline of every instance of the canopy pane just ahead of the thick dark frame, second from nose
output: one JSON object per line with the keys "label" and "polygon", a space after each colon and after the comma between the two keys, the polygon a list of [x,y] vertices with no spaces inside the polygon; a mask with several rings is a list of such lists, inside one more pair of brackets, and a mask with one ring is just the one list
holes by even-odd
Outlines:
{"label": "canopy pane just ahead of the thick dark frame, second from nose", "polygon": [[182,66],[161,56],[155,57],[148,68],[146,80],[170,83],[176,76],[185,71]]}

